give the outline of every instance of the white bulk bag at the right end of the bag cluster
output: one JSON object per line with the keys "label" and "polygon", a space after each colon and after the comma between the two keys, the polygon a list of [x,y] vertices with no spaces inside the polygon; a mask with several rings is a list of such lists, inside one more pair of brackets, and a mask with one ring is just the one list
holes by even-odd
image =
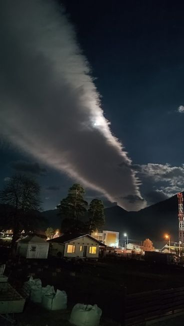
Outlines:
{"label": "white bulk bag at the right end of the bag cluster", "polygon": [[51,295],[44,294],[41,300],[42,306],[48,310],[60,310],[67,308],[67,295],[65,291],[57,290]]}

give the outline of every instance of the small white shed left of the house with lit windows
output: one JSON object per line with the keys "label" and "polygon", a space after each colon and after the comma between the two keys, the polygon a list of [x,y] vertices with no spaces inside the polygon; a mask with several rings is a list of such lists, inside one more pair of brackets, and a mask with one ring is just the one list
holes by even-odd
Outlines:
{"label": "small white shed left of the house with lit windows", "polygon": [[25,258],[47,258],[49,244],[46,239],[27,235],[17,240],[16,254]]}

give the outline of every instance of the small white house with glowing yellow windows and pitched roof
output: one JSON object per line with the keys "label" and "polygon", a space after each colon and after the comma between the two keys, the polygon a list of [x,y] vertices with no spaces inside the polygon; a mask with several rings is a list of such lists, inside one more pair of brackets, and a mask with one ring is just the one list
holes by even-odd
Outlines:
{"label": "small white house with glowing yellow windows and pitched roof", "polygon": [[58,258],[98,258],[99,246],[105,245],[89,234],[62,235],[47,241],[49,254]]}

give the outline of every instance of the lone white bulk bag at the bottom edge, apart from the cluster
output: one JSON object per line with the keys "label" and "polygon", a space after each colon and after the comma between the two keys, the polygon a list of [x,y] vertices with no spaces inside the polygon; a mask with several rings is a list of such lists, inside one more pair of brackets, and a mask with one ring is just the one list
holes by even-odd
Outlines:
{"label": "lone white bulk bag at the bottom edge, apart from the cluster", "polygon": [[69,322],[76,326],[98,326],[101,313],[96,304],[77,303],[71,311]]}

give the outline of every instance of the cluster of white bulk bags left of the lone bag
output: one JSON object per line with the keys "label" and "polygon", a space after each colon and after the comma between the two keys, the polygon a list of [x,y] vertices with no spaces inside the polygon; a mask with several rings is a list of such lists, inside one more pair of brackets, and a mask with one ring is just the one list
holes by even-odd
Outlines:
{"label": "cluster of white bulk bags left of the lone bag", "polygon": [[24,282],[23,291],[27,297],[35,303],[41,303],[48,310],[60,310],[67,308],[67,295],[65,291],[54,290],[51,285],[42,287],[39,278],[30,276],[27,282]]}

